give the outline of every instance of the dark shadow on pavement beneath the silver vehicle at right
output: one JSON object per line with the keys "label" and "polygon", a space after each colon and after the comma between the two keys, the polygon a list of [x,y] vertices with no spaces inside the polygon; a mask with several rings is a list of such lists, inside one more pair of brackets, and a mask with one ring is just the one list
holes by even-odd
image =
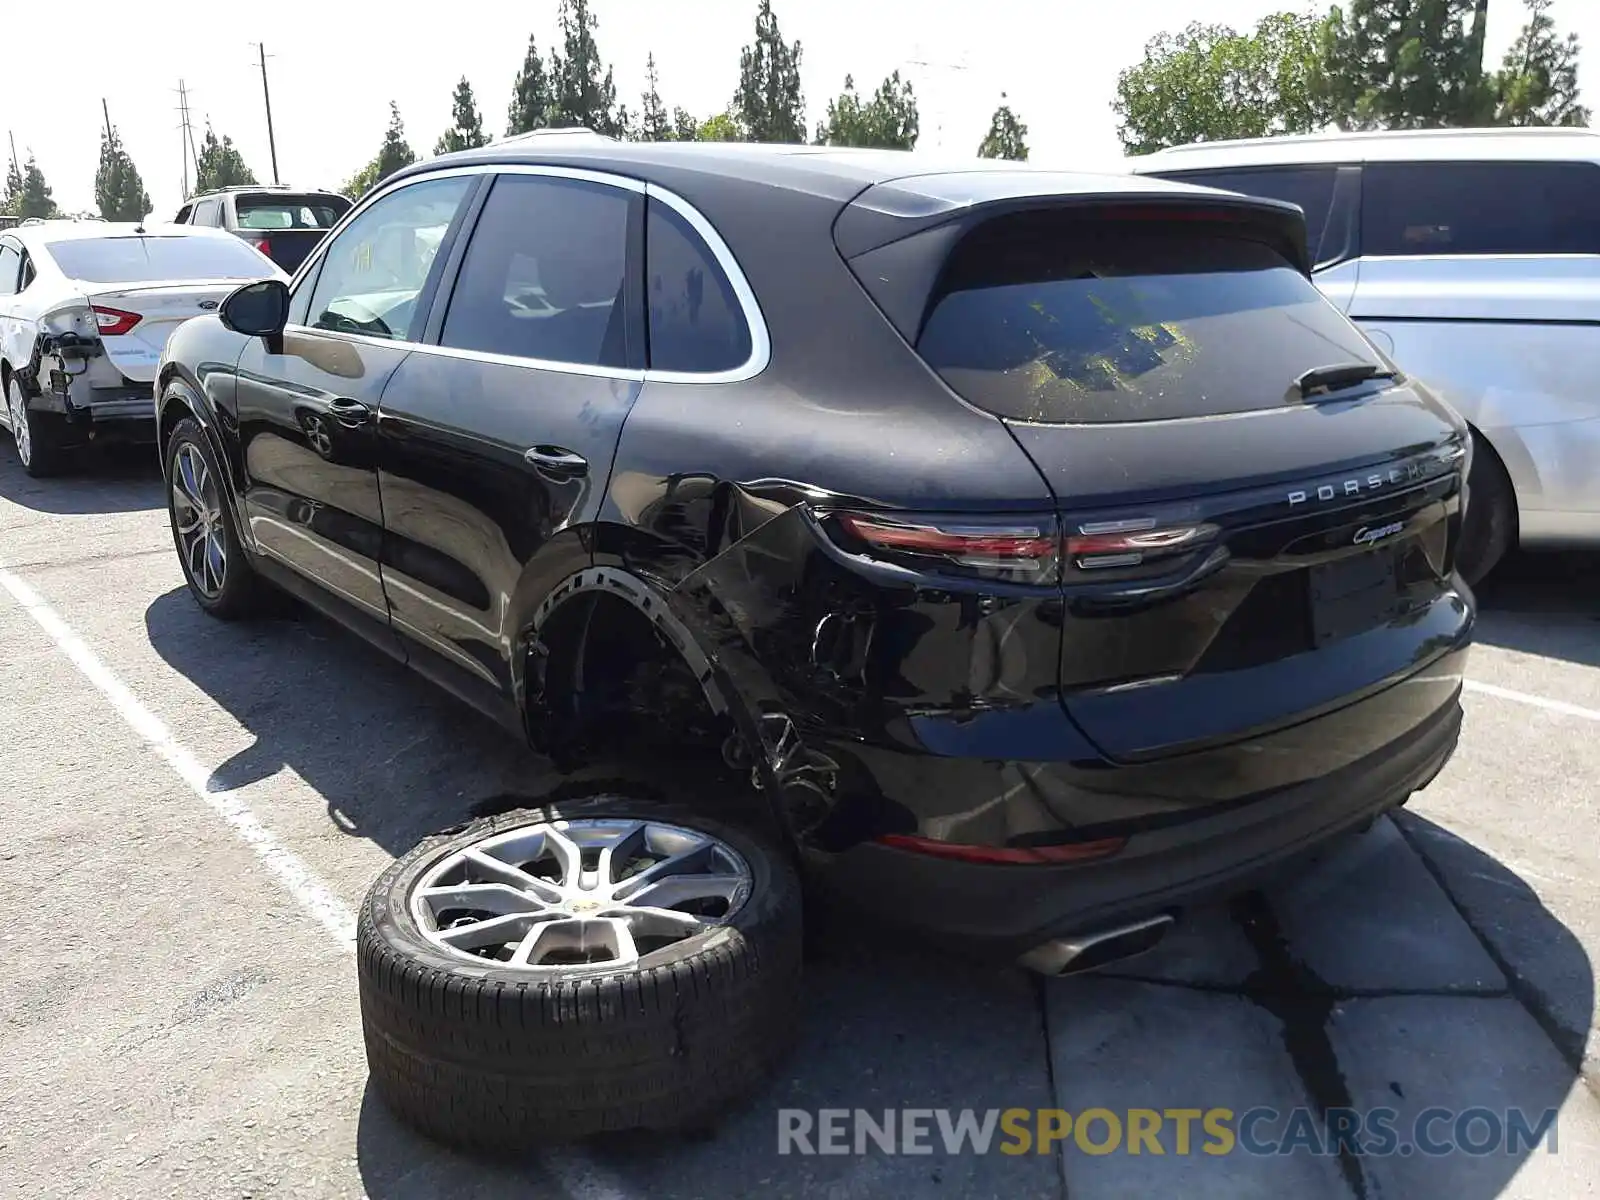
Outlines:
{"label": "dark shadow on pavement beneath the silver vehicle at right", "polygon": [[1478,642],[1600,667],[1600,554],[1514,554],[1477,595]]}

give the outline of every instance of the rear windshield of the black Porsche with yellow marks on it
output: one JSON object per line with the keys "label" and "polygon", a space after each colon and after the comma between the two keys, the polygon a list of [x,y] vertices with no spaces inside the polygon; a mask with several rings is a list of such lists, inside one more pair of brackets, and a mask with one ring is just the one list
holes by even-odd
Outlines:
{"label": "rear windshield of the black Porsche with yellow marks on it", "polygon": [[1040,422],[1272,408],[1312,366],[1379,362],[1261,242],[1040,214],[955,248],[917,350],[968,402]]}

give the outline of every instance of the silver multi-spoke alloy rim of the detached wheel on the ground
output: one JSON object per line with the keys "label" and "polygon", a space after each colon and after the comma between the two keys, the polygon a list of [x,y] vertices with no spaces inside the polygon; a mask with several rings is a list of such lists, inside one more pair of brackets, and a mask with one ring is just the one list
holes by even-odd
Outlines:
{"label": "silver multi-spoke alloy rim of the detached wheel on the ground", "polygon": [[429,867],[411,917],[454,958],[520,971],[629,966],[722,925],[750,869],[709,834],[587,818],[488,834]]}

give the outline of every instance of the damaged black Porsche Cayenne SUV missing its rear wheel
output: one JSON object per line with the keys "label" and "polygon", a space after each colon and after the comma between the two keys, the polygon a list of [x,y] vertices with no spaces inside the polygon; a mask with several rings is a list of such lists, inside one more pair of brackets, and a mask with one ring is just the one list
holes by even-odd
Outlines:
{"label": "damaged black Porsche Cayenne SUV missing its rear wheel", "polygon": [[1054,970],[1454,749],[1466,429],[1307,266],[1147,178],[434,158],[171,338],[174,539],[546,750],[709,738],[826,891]]}

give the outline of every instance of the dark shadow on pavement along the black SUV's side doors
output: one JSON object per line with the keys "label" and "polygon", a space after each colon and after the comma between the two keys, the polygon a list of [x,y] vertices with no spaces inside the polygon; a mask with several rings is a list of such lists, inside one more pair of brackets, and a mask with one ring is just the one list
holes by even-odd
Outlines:
{"label": "dark shadow on pavement along the black SUV's side doors", "polygon": [[214,790],[288,766],[346,834],[398,858],[485,797],[538,792],[544,760],[354,634],[299,606],[251,622],[208,618],[187,589],[146,610],[150,646],[254,741],[214,768]]}

